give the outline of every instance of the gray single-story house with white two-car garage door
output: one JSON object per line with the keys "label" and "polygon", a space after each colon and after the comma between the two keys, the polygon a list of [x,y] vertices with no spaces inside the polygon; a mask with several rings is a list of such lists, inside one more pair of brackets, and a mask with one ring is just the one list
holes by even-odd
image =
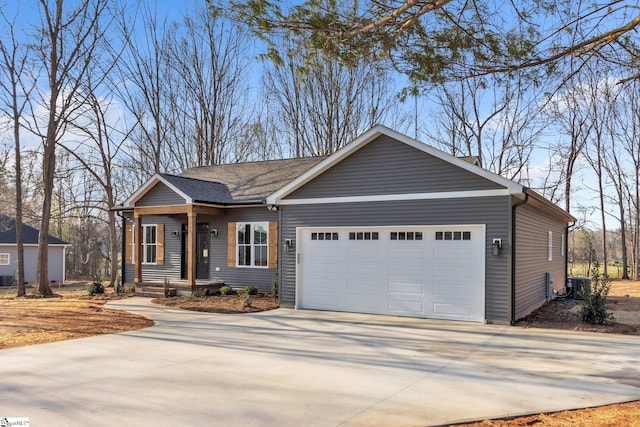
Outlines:
{"label": "gray single-story house with white two-car garage door", "polygon": [[156,174],[120,209],[129,283],[275,280],[283,307],[495,323],[564,288],[575,221],[383,126],[328,157]]}

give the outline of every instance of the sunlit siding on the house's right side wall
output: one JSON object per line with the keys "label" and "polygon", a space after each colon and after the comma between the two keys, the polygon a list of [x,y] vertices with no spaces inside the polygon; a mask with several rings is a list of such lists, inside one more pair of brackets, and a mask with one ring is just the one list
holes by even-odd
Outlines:
{"label": "sunlit siding on the house's right side wall", "polygon": [[[546,301],[545,273],[551,273],[553,287],[562,290],[566,282],[562,235],[566,223],[524,204],[516,209],[516,318],[518,320]],[[548,232],[553,233],[553,257],[548,261]],[[566,236],[565,236],[566,238]]]}

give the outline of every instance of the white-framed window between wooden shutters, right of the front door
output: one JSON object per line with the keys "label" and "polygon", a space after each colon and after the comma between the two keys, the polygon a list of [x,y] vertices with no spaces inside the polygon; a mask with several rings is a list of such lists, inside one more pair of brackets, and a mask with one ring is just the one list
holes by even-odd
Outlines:
{"label": "white-framed window between wooden shutters, right of the front door", "polygon": [[238,266],[266,268],[269,254],[269,223],[237,223],[236,232]]}

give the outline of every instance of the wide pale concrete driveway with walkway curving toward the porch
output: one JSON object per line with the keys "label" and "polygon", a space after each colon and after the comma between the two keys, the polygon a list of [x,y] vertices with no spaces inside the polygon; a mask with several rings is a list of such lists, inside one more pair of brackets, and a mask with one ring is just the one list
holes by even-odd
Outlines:
{"label": "wide pale concrete driveway with walkway curving toward the porch", "polygon": [[[0,350],[32,426],[424,426],[640,399],[640,337],[279,309]],[[1,313],[0,313],[1,315]]]}

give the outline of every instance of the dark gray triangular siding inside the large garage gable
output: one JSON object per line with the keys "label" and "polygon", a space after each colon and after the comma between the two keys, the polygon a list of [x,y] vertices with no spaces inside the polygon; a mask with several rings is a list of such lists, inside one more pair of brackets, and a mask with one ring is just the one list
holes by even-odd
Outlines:
{"label": "dark gray triangular siding inside the large garage gable", "polygon": [[381,136],[287,199],[502,188],[416,148]]}

